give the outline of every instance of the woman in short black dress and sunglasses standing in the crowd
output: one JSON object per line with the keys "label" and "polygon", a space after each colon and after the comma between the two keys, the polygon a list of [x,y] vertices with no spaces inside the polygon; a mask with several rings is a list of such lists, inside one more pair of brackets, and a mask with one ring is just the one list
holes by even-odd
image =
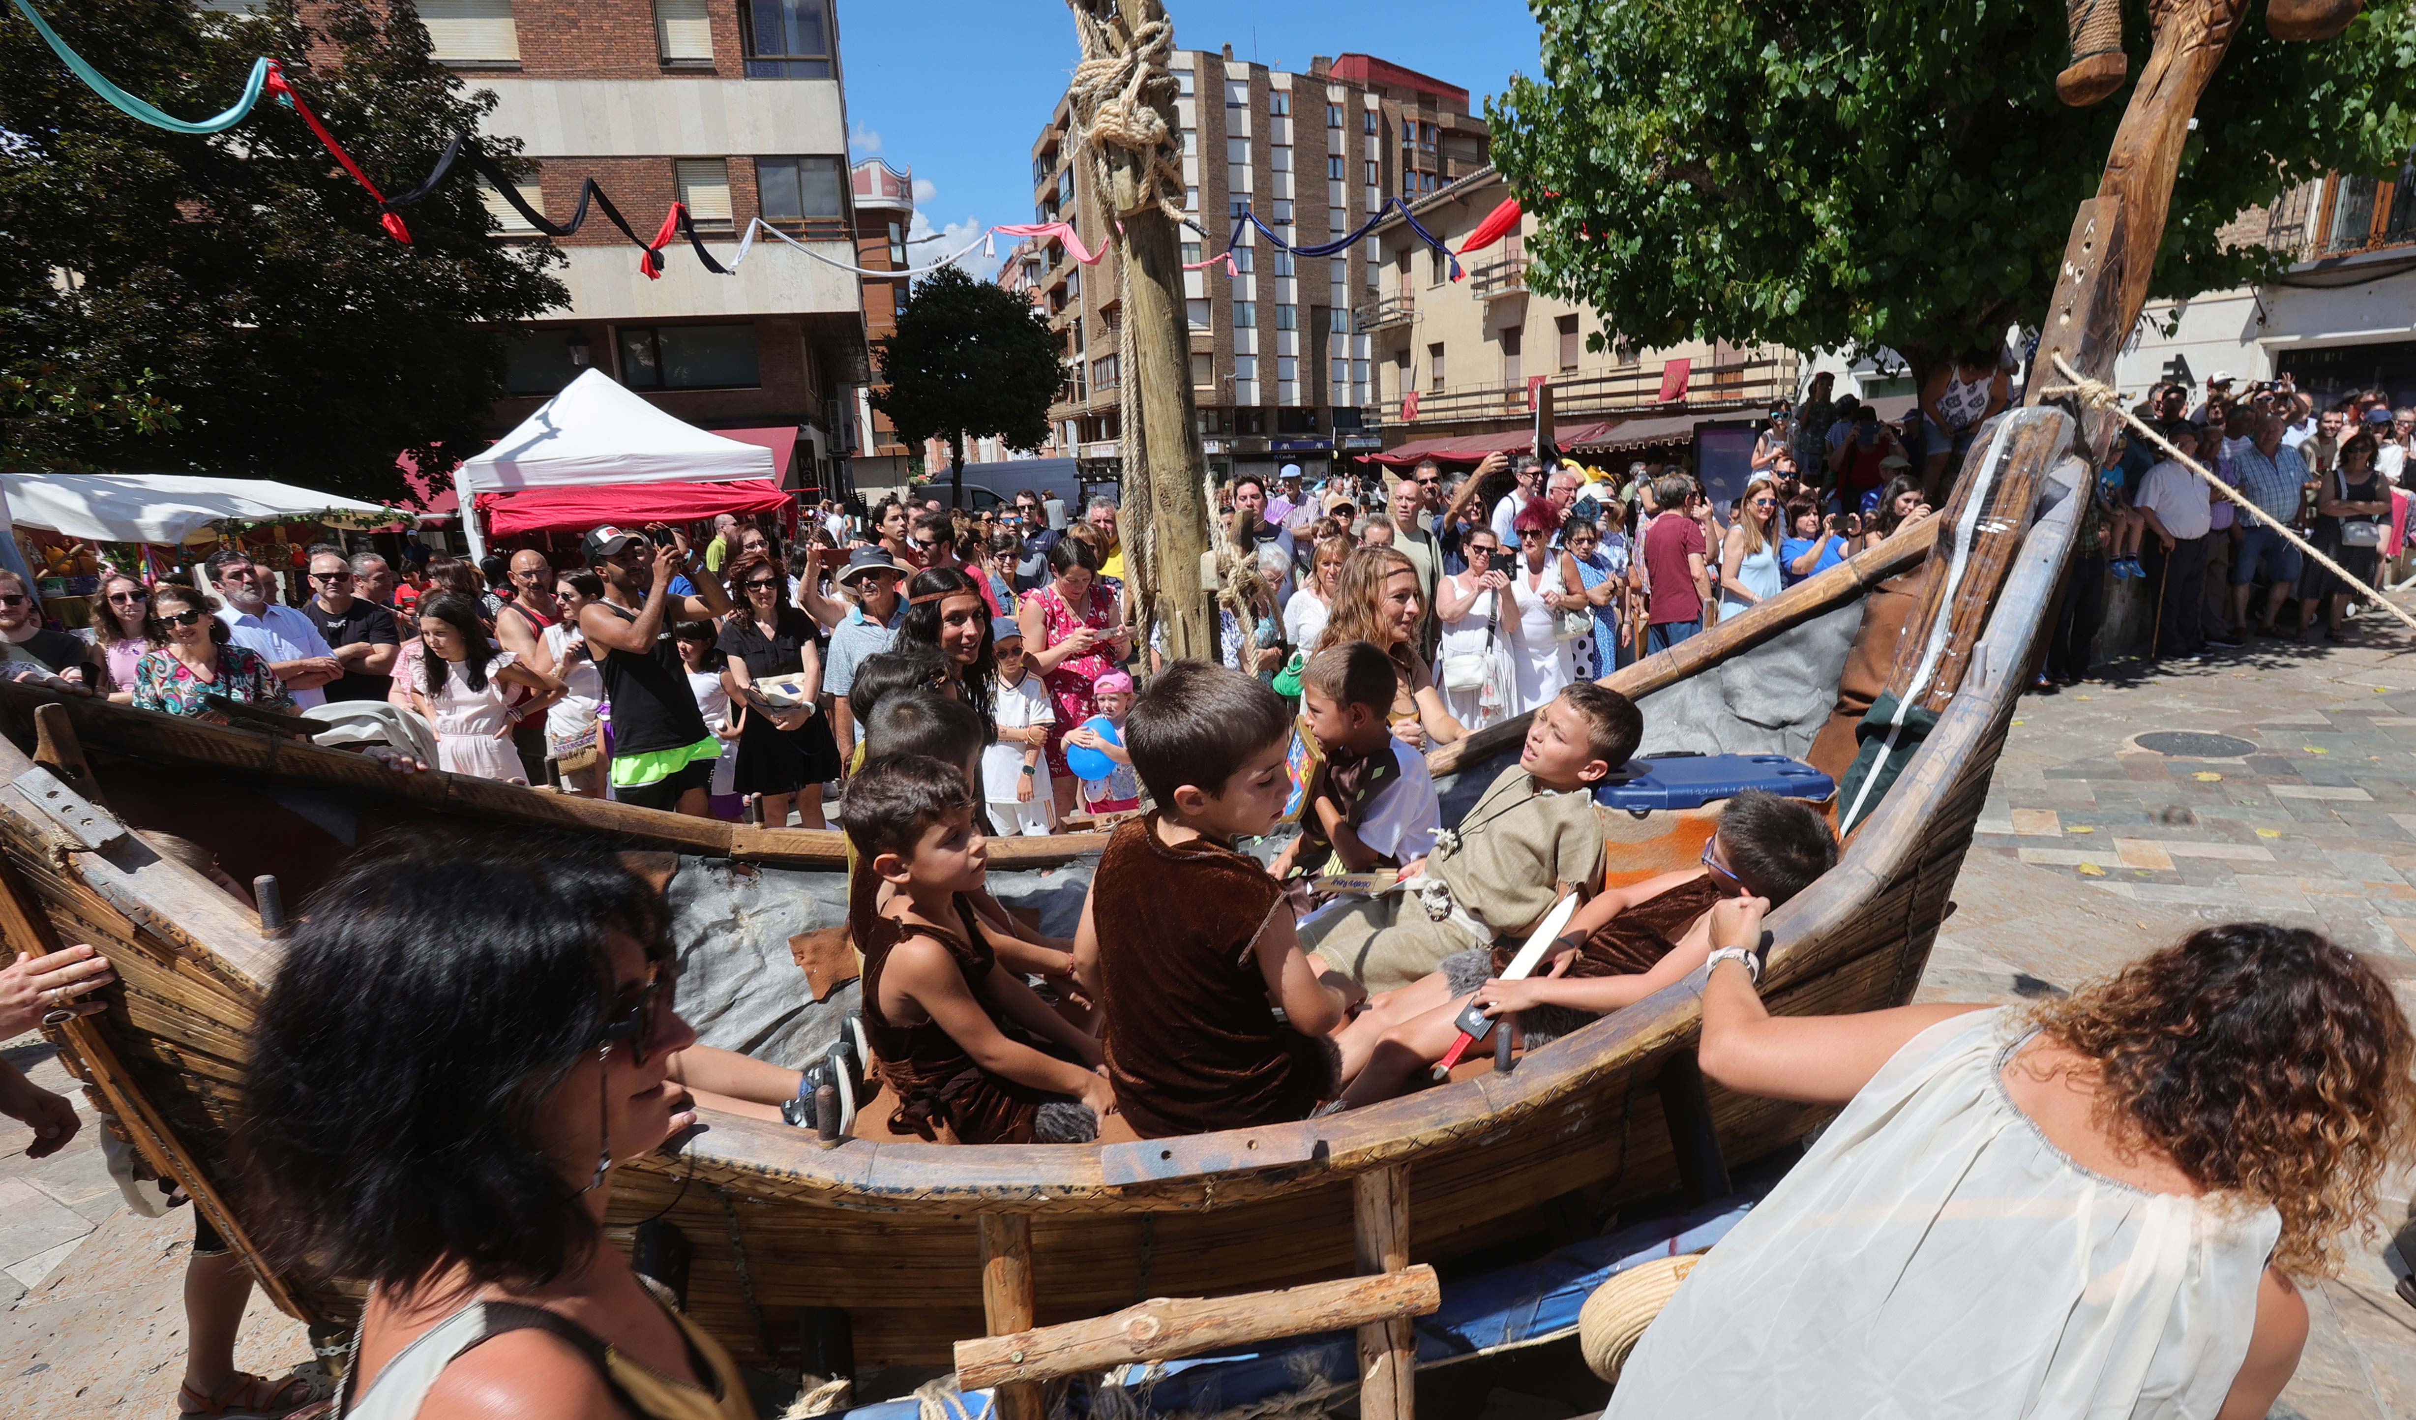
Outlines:
{"label": "woman in short black dress and sunglasses standing in the crowd", "polygon": [[[817,705],[821,628],[788,599],[788,575],[759,548],[730,563],[730,601],[720,650],[727,659],[732,715],[739,722],[730,787],[754,797],[768,828],[788,828],[790,802],[805,828],[824,828],[821,785],[838,778],[838,739]],[[756,703],[756,681],[797,676],[788,705]]]}

